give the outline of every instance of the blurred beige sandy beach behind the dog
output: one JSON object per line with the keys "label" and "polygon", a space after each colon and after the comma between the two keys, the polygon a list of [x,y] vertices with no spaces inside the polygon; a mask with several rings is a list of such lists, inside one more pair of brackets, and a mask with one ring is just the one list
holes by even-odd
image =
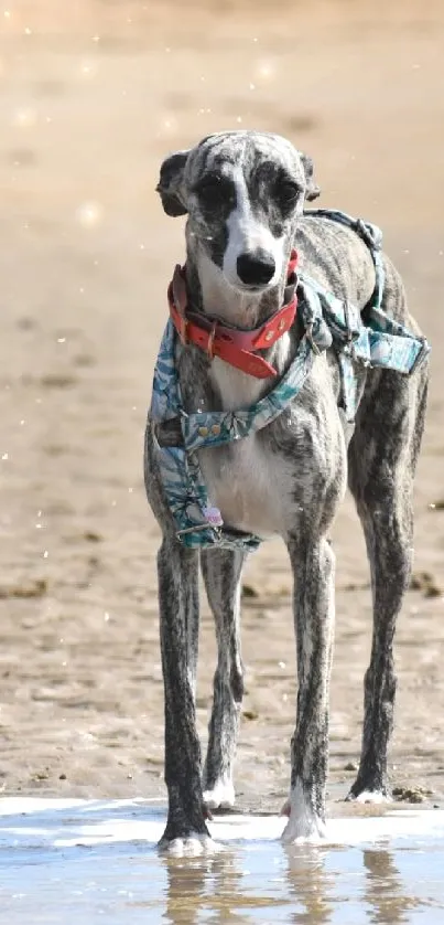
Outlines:
{"label": "blurred beige sandy beach behind the dog", "polygon": [[[257,127],[314,157],[321,204],[382,225],[433,343],[416,489],[420,587],[399,623],[391,757],[397,786],[440,802],[442,2],[4,0],[0,30],[0,787],[164,793],[159,531],[141,459],[183,222],[163,215],[154,187],[169,151],[212,130]],[[335,542],[333,797],[345,795],[359,752],[370,644],[367,564],[349,499]],[[288,787],[295,710],[279,542],[251,559],[246,582],[257,596],[243,613],[239,802],[271,809]],[[205,605],[204,738],[213,668]]]}

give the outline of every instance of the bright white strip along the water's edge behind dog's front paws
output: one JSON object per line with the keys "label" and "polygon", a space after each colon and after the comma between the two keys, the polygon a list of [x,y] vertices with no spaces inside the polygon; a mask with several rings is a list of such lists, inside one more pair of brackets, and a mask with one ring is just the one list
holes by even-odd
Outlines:
{"label": "bright white strip along the water's edge behind dog's front paws", "polygon": [[[280,839],[281,816],[215,818],[208,823],[221,842]],[[109,842],[144,841],[155,846],[165,826],[158,800],[83,800],[6,797],[0,799],[0,848],[52,846],[68,848]],[[358,846],[393,839],[444,839],[444,810],[405,809],[376,817],[329,819],[324,844]]]}

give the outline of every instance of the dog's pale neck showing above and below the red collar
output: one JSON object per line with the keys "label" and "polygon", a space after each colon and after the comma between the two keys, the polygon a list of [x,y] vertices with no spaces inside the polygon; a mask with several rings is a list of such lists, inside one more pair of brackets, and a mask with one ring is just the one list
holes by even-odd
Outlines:
{"label": "dog's pale neck showing above and below the red collar", "polygon": [[[203,251],[187,248],[186,286],[191,305],[207,315],[216,316],[239,328],[257,328],[284,299],[285,277],[266,293],[242,293],[230,286],[224,274]],[[288,362],[290,334],[284,333],[263,355],[281,374]],[[273,386],[273,379],[256,379],[230,366],[217,357],[208,365],[208,376],[220,397],[224,410],[248,407],[258,402]]]}

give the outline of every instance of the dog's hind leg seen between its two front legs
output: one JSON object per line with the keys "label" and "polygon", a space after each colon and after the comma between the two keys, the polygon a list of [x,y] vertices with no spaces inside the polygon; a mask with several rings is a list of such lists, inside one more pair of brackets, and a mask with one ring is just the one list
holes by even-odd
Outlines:
{"label": "dog's hind leg seen between its two front legs", "polygon": [[234,806],[232,766],[243,695],[240,655],[240,577],[242,550],[207,550],[202,571],[217,637],[213,711],[204,770],[204,801],[209,808]]}

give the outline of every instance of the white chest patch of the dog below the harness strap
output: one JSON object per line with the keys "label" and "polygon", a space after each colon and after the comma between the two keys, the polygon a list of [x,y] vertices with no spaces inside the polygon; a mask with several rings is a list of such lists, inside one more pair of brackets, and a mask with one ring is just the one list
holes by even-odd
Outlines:
{"label": "white chest patch of the dog below the harness strap", "polygon": [[272,454],[256,434],[229,446],[199,453],[209,503],[226,527],[259,536],[285,532],[292,507],[289,465]]}

